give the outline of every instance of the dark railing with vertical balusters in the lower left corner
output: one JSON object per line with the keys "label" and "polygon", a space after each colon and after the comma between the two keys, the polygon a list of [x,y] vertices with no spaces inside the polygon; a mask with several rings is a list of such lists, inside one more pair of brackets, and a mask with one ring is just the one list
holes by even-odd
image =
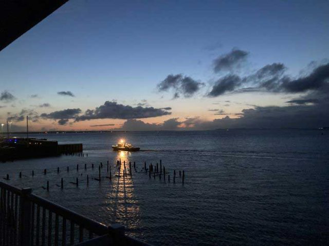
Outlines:
{"label": "dark railing with vertical balusters in the lower left corner", "polygon": [[104,224],[0,181],[0,246],[149,245]]}

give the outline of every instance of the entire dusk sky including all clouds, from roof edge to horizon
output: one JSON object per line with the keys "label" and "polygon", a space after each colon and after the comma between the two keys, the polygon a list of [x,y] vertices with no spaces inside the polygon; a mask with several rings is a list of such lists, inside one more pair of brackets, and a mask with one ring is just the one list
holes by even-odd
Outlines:
{"label": "entire dusk sky including all clouds, from roof edge to horizon", "polygon": [[328,13],[326,0],[70,0],[0,52],[0,123],[328,127]]}

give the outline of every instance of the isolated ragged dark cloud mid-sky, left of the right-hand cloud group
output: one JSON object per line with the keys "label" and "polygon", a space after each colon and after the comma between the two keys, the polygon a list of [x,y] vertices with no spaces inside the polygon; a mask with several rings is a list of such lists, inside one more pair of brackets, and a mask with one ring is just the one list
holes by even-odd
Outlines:
{"label": "isolated ragged dark cloud mid-sky, left of the right-hand cloud group", "polygon": [[178,98],[181,94],[184,97],[191,97],[204,85],[204,83],[194,80],[189,76],[170,74],[157,85],[157,90],[163,92],[172,89],[174,91],[174,98]]}

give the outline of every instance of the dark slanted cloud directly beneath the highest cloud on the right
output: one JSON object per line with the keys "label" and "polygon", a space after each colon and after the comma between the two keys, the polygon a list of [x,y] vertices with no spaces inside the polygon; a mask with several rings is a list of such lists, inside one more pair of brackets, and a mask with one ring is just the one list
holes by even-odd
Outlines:
{"label": "dark slanted cloud directly beneath the highest cloud on the right", "polygon": [[230,92],[241,85],[241,78],[237,75],[227,75],[216,81],[208,96],[215,97],[224,94],[225,92]]}

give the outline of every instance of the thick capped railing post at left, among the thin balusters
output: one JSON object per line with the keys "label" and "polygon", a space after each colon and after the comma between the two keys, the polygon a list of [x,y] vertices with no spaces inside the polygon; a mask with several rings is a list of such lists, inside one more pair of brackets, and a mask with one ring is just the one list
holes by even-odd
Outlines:
{"label": "thick capped railing post at left, among the thin balusters", "polygon": [[31,201],[27,199],[31,192],[31,188],[24,188],[20,197],[20,245],[22,246],[31,243]]}

